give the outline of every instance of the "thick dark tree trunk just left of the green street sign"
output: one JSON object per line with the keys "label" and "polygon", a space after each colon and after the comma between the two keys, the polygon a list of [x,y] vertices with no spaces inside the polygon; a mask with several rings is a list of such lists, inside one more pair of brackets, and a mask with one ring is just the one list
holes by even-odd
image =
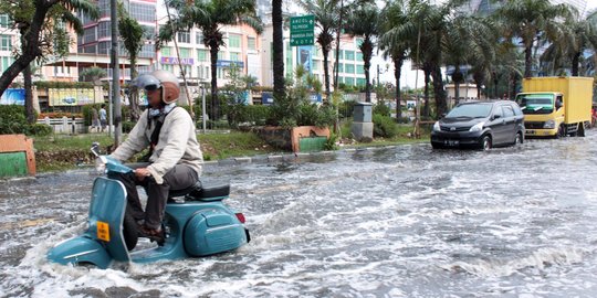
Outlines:
{"label": "thick dark tree trunk just left of the green street sign", "polygon": [[282,19],[282,0],[272,1],[272,23],[273,23],[273,79],[274,98],[283,98],[286,95],[284,82],[284,36]]}

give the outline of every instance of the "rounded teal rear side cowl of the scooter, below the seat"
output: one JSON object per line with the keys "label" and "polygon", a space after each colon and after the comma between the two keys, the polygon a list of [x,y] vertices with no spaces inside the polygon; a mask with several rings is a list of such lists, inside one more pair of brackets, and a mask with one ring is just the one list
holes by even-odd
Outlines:
{"label": "rounded teal rear side cowl of the scooter, below the seat", "polygon": [[207,256],[235,249],[247,243],[244,226],[223,210],[202,210],[185,227],[185,248],[189,255]]}

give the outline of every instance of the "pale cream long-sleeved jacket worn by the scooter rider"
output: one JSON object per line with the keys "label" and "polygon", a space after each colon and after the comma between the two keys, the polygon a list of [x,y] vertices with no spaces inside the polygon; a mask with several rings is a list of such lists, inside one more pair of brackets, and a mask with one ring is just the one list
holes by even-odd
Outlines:
{"label": "pale cream long-sleeved jacket worn by the scooter rider", "polygon": [[[126,161],[149,147],[157,119],[153,119],[150,129],[147,129],[147,113],[148,110],[145,110],[142,114],[139,121],[128,134],[128,138],[111,155],[113,158]],[[195,125],[187,110],[176,107],[166,116],[149,162],[151,164],[147,169],[158,184],[164,183],[164,174],[178,163],[188,164],[197,171],[198,175],[201,175],[203,153],[195,135]]]}

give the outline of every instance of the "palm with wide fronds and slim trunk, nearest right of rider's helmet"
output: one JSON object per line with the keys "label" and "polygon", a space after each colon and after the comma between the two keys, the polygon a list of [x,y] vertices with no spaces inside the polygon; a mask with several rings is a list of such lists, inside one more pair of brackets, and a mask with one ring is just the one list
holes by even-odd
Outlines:
{"label": "palm with wide fronds and slim trunk, nearest right of rider's helmet", "polygon": [[172,40],[175,34],[192,26],[203,32],[203,44],[209,47],[211,61],[211,100],[213,108],[211,119],[219,118],[218,100],[218,52],[224,45],[221,32],[224,25],[247,24],[261,33],[261,20],[255,15],[255,0],[207,0],[189,2],[171,0],[166,3],[174,8],[178,15],[159,30],[158,44]]}

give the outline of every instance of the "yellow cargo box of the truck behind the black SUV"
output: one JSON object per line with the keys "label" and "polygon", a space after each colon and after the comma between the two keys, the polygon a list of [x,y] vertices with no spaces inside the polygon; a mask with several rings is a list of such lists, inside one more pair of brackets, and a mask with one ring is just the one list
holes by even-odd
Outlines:
{"label": "yellow cargo box of the truck behind the black SUV", "polygon": [[564,123],[590,121],[593,77],[527,77],[523,92],[554,92],[564,95]]}

